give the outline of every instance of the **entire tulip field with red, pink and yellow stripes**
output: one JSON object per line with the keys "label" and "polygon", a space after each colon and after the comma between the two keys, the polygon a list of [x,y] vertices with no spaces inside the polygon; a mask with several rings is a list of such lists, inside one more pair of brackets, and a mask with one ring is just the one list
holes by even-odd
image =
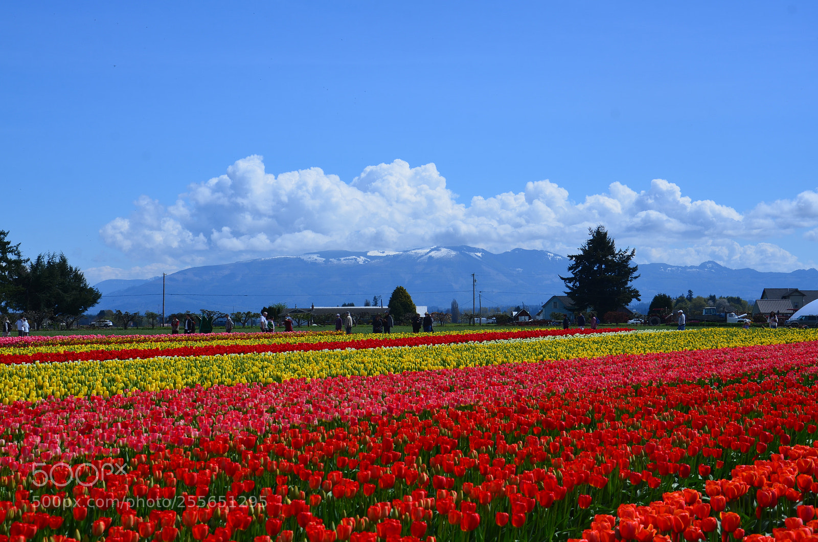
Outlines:
{"label": "entire tulip field with red, pink and yellow stripes", "polygon": [[0,542],[818,542],[818,330],[3,337],[0,403]]}

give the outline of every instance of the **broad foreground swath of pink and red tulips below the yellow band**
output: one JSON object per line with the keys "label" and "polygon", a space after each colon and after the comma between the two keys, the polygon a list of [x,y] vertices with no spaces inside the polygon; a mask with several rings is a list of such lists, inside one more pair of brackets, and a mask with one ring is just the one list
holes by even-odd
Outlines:
{"label": "broad foreground swath of pink and red tulips below the yellow band", "polygon": [[[816,504],[816,357],[801,343],[16,403],[0,408],[0,529],[595,542],[624,538],[625,518],[625,535],[633,520],[643,538],[740,538]],[[678,507],[639,508],[682,487],[698,531]],[[617,524],[622,503],[639,515]],[[685,529],[660,529],[665,513]]]}

